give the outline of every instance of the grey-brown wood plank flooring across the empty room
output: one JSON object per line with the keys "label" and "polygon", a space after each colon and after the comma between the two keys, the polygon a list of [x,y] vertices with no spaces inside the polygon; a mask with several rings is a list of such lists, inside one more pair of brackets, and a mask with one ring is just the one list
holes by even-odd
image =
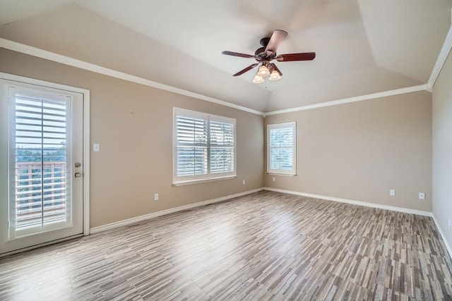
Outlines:
{"label": "grey-brown wood plank flooring across the empty room", "polygon": [[0,300],[452,300],[425,216],[257,192],[0,259]]}

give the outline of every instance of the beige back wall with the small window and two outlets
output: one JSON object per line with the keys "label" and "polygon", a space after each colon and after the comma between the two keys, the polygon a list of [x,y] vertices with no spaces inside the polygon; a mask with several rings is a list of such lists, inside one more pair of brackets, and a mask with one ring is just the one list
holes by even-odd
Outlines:
{"label": "beige back wall with the small window and two outlets", "polygon": [[428,92],[267,116],[265,123],[289,121],[297,121],[297,176],[273,182],[266,175],[266,187],[432,211]]}

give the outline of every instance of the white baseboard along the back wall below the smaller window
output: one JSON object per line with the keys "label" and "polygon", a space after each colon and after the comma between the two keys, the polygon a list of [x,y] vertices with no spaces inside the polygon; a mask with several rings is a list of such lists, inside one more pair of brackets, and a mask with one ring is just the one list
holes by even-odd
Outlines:
{"label": "white baseboard along the back wall below the smaller window", "polygon": [[311,193],[297,192],[297,191],[292,191],[292,190],[283,190],[283,189],[277,189],[277,188],[264,187],[263,189],[268,190],[268,191],[274,191],[274,192],[288,193],[290,195],[301,195],[302,197],[314,197],[315,199],[326,199],[328,201],[333,201],[333,202],[347,203],[347,204],[359,205],[359,206],[364,206],[364,207],[386,209],[386,210],[403,212],[403,213],[408,213],[408,214],[417,214],[417,215],[422,215],[422,216],[433,217],[432,212],[429,212],[429,211],[422,211],[422,210],[416,210],[416,209],[408,209],[408,208],[402,208],[402,207],[374,204],[374,203],[369,203],[369,202],[355,201],[353,199],[341,199],[339,197],[327,197],[325,195],[313,195]]}

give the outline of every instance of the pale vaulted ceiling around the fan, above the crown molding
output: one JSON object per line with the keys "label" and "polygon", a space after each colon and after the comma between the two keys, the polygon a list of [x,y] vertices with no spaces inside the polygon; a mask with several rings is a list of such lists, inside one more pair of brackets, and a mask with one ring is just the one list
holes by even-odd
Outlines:
{"label": "pale vaulted ceiling around the fan, above the crown molding", "polygon": [[[0,37],[258,111],[424,84],[452,0],[0,0]],[[289,32],[278,82],[239,77],[273,30]]]}

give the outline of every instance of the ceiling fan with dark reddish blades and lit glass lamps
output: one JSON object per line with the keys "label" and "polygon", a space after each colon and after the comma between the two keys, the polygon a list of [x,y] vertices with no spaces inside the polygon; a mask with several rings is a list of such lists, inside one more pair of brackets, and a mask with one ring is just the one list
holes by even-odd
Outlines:
{"label": "ceiling fan with dark reddish blades and lit glass lamps", "polygon": [[273,31],[273,35],[271,37],[263,37],[260,41],[261,48],[258,48],[254,51],[254,55],[252,54],[240,54],[238,52],[232,51],[222,51],[222,54],[226,54],[227,56],[239,56],[241,58],[252,58],[256,59],[258,63],[251,64],[250,66],[240,70],[235,73],[233,76],[242,75],[243,73],[255,68],[258,65],[261,65],[258,69],[258,72],[254,76],[253,82],[259,84],[264,82],[263,78],[270,76],[268,80],[280,80],[283,73],[278,69],[278,67],[274,63],[270,63],[274,59],[276,61],[312,61],[316,57],[315,52],[303,52],[299,54],[276,54],[276,50],[278,49],[278,45],[283,39],[287,36],[287,32],[285,30],[275,30]]}

